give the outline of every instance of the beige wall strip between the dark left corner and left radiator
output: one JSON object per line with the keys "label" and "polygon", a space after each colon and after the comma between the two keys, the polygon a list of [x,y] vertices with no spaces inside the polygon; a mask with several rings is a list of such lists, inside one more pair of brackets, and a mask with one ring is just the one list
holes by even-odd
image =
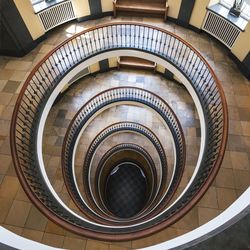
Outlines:
{"label": "beige wall strip between the dark left corner and left radiator", "polygon": [[42,36],[44,34],[44,29],[38,16],[34,13],[30,0],[14,0],[14,3],[33,40]]}

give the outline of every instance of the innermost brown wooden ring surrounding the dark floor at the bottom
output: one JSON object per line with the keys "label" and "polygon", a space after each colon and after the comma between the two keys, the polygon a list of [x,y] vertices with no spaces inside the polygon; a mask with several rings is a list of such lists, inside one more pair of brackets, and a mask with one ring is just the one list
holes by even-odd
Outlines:
{"label": "innermost brown wooden ring surrounding the dark floor at the bottom", "polygon": [[[128,130],[129,131],[129,130]],[[131,132],[131,131],[130,131]],[[117,159],[117,155],[118,158]],[[132,218],[119,218],[114,216],[107,206],[107,193],[106,185],[109,177],[112,175],[112,171],[119,164],[124,162],[132,162],[137,166],[140,166],[143,174],[145,175],[145,181],[147,183],[147,202],[145,206],[135,214]],[[166,180],[165,180],[166,181]],[[157,195],[157,171],[153,158],[147,150],[135,143],[120,143],[109,149],[98,162],[94,181],[93,183],[88,183],[89,189],[91,189],[92,200],[98,205],[99,209],[108,215],[108,218],[114,220],[133,220],[138,218],[140,215],[145,214],[151,207]]]}

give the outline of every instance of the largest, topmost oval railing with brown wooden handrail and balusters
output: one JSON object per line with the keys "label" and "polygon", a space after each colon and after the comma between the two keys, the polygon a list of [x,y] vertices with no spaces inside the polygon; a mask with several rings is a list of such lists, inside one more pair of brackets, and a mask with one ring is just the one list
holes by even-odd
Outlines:
{"label": "largest, topmost oval railing with brown wooden handrail and balusters", "polygon": [[[16,102],[11,123],[11,152],[19,180],[32,202],[54,222],[88,237],[127,240],[151,234],[152,225],[137,233],[110,235],[117,228],[83,220],[58,201],[47,187],[37,155],[37,131],[43,108],[60,80],[88,58],[117,49],[140,50],[153,54],[177,68],[196,92],[206,119],[205,148],[199,170],[186,192],[154,225],[156,232],[182,217],[198,202],[215,178],[221,165],[228,131],[224,92],[213,70],[191,45],[166,30],[139,23],[110,23],[87,29],[52,50],[28,76]],[[168,218],[168,219],[166,219]],[[151,228],[150,228],[151,227]],[[118,230],[120,233],[122,230]]]}

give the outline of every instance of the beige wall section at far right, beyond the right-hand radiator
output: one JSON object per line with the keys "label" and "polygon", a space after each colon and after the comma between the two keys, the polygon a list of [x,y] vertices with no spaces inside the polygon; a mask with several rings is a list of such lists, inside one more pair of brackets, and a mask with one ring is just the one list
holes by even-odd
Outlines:
{"label": "beige wall section at far right, beyond the right-hand radiator", "polygon": [[250,23],[248,22],[244,32],[242,32],[235,41],[232,53],[240,60],[243,61],[248,52],[250,51]]}

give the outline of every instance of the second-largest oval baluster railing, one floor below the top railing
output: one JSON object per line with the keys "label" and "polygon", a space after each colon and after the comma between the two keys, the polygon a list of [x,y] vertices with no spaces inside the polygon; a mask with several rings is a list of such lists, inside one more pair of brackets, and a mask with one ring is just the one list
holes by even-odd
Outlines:
{"label": "second-largest oval baluster railing, one floor below the top railing", "polygon": [[[80,192],[77,190],[76,181],[74,180],[74,172],[73,172],[74,166],[72,166],[74,159],[74,152],[77,147],[77,142],[81,136],[81,133],[83,132],[82,128],[85,127],[85,124],[89,122],[89,119],[91,119],[91,117],[93,117],[97,112],[99,112],[99,110],[104,110],[106,108],[109,108],[110,105],[117,105],[117,103],[119,104],[123,102],[131,102],[134,104],[139,103],[153,109],[164,120],[164,122],[166,123],[166,127],[169,128],[170,133],[172,134],[173,137],[174,148],[176,150],[175,154],[176,161],[174,166],[174,169],[176,169],[176,171],[174,173],[173,181],[169,189],[161,198],[161,202],[159,204],[157,203],[157,209],[163,209],[164,206],[167,204],[167,202],[171,199],[182,176],[185,164],[185,140],[179,120],[175,116],[172,109],[168,106],[168,104],[159,96],[153,94],[150,91],[146,91],[140,88],[117,87],[103,91],[94,96],[93,98],[91,98],[91,100],[89,100],[77,112],[77,114],[72,119],[68,127],[63,142],[62,169],[63,169],[64,181],[65,183],[67,183],[66,186],[72,199],[74,200],[76,205],[81,209],[81,211],[86,213],[87,216],[91,216],[92,213],[90,209],[87,207],[84,199],[82,199]],[[131,128],[133,128],[134,130],[138,130],[138,126],[136,124],[130,124],[130,125]],[[145,130],[144,127],[142,127],[142,129]],[[108,134],[108,130],[104,132]],[[103,136],[105,136],[106,133],[104,133]],[[144,135],[147,134],[144,132]],[[155,143],[155,141],[152,142]],[[97,145],[98,145],[97,143],[93,145],[93,152]],[[161,146],[161,145],[157,143],[155,144],[155,146]],[[160,148],[160,151],[161,154],[164,152],[162,148]],[[164,159],[162,160],[164,161]],[[87,159],[87,164],[88,165],[90,164],[90,159]],[[84,171],[87,171],[87,168],[84,168]],[[86,172],[84,173],[85,176],[87,174],[88,173]],[[163,176],[162,179],[164,180],[166,179],[166,177]],[[150,215],[152,216],[154,214],[155,214],[154,212],[150,213]]]}

